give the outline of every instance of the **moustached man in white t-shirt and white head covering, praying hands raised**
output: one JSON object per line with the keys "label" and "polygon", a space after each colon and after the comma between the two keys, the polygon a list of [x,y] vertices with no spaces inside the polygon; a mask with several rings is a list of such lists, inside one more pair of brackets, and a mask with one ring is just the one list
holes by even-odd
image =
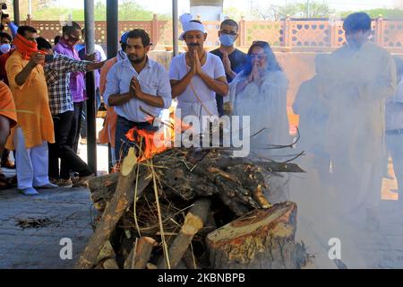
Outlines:
{"label": "moustached man in white t-shirt and white head covering, praying hands raised", "polygon": [[228,85],[221,59],[203,48],[207,38],[203,24],[191,17],[181,17],[184,32],[179,39],[186,42],[188,52],[172,59],[169,78],[181,119],[195,116],[201,120],[203,116],[219,116],[216,93],[227,95]]}

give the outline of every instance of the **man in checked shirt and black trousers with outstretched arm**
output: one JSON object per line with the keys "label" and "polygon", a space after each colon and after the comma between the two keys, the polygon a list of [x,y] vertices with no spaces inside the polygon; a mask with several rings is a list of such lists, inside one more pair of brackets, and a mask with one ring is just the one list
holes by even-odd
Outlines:
{"label": "man in checked shirt and black trousers with outstretched arm", "polygon": [[[44,70],[47,79],[49,106],[55,126],[56,143],[49,144],[49,178],[58,186],[80,187],[93,176],[88,165],[73,151],[73,136],[69,135],[73,123],[73,98],[70,91],[70,73],[100,69],[105,62],[80,61],[53,52],[46,39],[38,38],[38,49],[53,55],[46,61]],[[59,173],[58,159],[61,159]],[[79,173],[79,178],[70,179],[70,170]]]}

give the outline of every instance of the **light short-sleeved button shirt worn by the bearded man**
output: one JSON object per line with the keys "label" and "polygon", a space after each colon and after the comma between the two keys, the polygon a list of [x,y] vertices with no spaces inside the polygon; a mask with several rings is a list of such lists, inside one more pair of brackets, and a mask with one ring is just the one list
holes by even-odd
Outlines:
{"label": "light short-sleeved button shirt worn by the bearded man", "polygon": [[[151,60],[150,57],[140,74],[137,74],[132,63],[127,58],[113,65],[107,73],[107,86],[104,93],[104,100],[108,102],[109,96],[112,94],[124,94],[129,92],[130,82],[133,76],[139,81],[141,91],[162,97],[162,100],[164,100],[163,109],[168,109],[171,106],[171,85],[169,83],[167,70],[163,65]],[[145,122],[152,119],[150,116],[144,114],[140,107],[156,117],[162,112],[162,109],[152,107],[138,99],[129,100],[123,105],[115,106],[114,108],[117,115],[133,122]]]}

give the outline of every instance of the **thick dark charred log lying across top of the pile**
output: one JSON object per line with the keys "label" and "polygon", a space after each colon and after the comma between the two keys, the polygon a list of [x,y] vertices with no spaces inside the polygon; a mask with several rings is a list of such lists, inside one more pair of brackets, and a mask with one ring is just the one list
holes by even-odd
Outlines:
{"label": "thick dark charred log lying across top of the pile", "polygon": [[[153,162],[164,191],[192,201],[196,196],[219,195],[239,216],[253,208],[270,207],[262,196],[263,170],[303,172],[296,164],[232,159],[219,150],[172,149],[154,155]],[[91,199],[100,211],[114,193],[111,175],[90,181]]]}

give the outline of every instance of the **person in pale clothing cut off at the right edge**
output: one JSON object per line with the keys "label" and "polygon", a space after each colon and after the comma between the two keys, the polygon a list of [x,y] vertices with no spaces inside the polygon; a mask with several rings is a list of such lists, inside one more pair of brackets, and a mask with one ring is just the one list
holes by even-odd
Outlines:
{"label": "person in pale clothing cut off at the right edge", "polygon": [[[393,97],[386,100],[386,146],[393,161],[399,192],[403,192],[403,61],[396,59],[398,88]],[[401,194],[403,195],[403,194]],[[399,196],[400,198],[401,196]]]}

